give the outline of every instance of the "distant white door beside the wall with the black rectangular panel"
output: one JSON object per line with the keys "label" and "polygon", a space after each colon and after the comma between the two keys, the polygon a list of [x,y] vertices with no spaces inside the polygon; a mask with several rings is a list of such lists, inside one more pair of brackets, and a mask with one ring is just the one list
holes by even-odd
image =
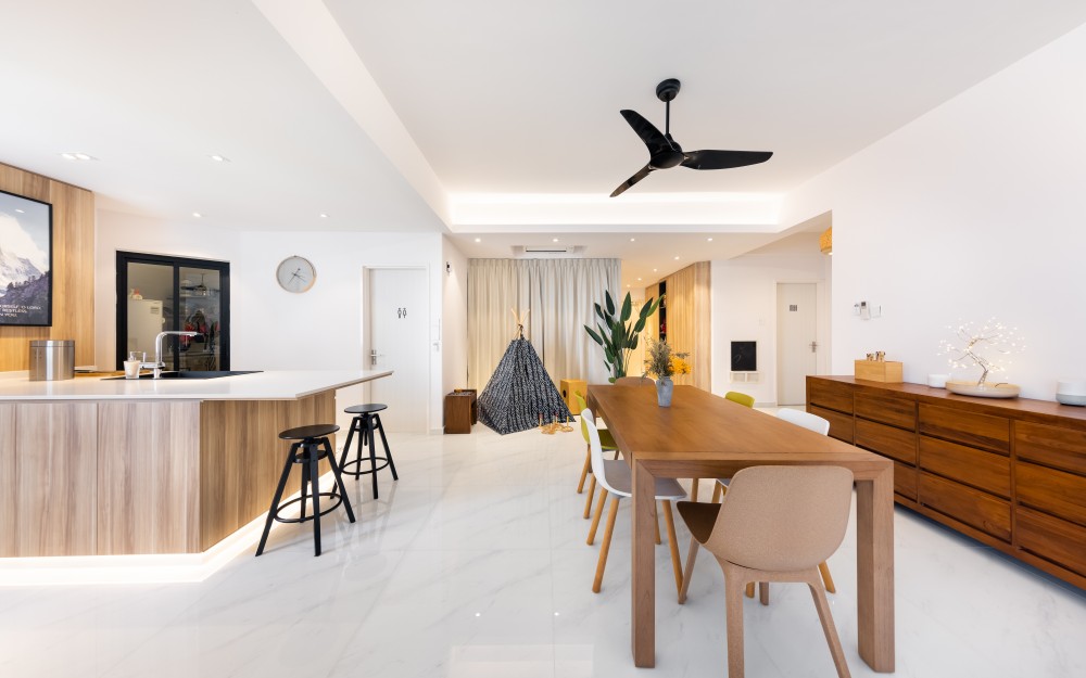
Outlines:
{"label": "distant white door beside the wall with the black rectangular panel", "polygon": [[807,375],[818,370],[815,283],[776,285],[776,404],[807,402]]}

